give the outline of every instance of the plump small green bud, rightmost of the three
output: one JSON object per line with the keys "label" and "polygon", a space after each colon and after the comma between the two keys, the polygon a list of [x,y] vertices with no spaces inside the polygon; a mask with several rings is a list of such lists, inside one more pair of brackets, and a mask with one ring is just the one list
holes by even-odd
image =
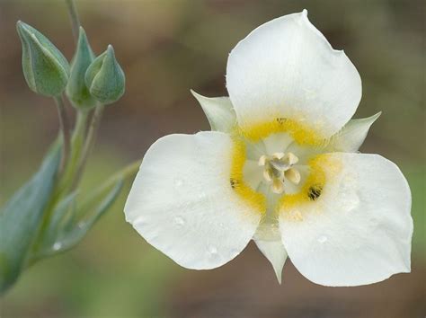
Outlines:
{"label": "plump small green bud, rightmost of the three", "polygon": [[85,84],[92,96],[104,105],[117,102],[123,95],[125,75],[111,45],[87,68]]}

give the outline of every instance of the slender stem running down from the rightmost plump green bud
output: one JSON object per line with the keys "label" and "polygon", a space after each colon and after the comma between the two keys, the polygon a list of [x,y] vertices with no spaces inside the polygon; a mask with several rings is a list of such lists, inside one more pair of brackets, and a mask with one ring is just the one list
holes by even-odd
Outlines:
{"label": "slender stem running down from the rightmost plump green bud", "polygon": [[80,161],[78,162],[77,172],[75,173],[75,179],[73,182],[73,186],[71,189],[75,189],[75,187],[80,182],[83,172],[84,172],[84,166],[87,162],[87,159],[90,155],[90,152],[93,148],[94,141],[96,140],[96,135],[98,132],[99,124],[102,119],[102,112],[103,112],[104,106],[102,104],[99,104],[96,106],[93,112],[92,121],[90,122],[90,126],[87,131],[87,137],[85,139],[84,147],[83,147],[83,153],[80,157]]}

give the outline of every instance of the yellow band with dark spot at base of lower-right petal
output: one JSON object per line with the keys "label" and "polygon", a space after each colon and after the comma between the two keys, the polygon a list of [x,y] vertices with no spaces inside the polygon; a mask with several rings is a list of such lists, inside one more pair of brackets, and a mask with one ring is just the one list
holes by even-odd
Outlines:
{"label": "yellow band with dark spot at base of lower-right petal", "polygon": [[282,196],[277,206],[279,213],[288,213],[290,218],[297,220],[303,219],[299,206],[319,199],[326,182],[342,169],[342,163],[332,159],[330,155],[317,155],[308,165],[310,173],[302,189],[297,193]]}

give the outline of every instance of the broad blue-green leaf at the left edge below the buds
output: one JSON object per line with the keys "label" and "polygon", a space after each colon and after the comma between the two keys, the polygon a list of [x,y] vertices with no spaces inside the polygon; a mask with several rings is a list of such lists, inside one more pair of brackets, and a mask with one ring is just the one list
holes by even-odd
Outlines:
{"label": "broad blue-green leaf at the left edge below the buds", "polygon": [[31,247],[55,190],[60,146],[53,146],[38,172],[15,192],[0,214],[0,293],[31,262]]}

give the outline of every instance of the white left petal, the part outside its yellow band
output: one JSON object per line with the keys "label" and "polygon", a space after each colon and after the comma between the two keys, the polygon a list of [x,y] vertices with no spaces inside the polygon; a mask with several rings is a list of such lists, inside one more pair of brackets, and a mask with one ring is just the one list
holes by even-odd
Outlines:
{"label": "white left petal, the part outside its yellow band", "polygon": [[126,202],[126,220],[148,243],[188,269],[231,261],[261,215],[229,182],[231,138],[170,135],[149,148]]}

